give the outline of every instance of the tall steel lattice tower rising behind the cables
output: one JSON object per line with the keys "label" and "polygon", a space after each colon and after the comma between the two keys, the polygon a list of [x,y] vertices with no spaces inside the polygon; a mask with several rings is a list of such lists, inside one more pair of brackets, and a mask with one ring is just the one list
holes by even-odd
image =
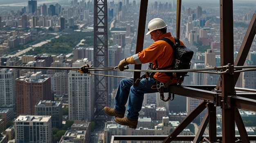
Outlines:
{"label": "tall steel lattice tower rising behind the cables", "polygon": [[[94,0],[94,67],[108,67],[108,8],[106,0]],[[99,71],[95,71],[99,74]],[[108,74],[107,71],[100,74]],[[102,109],[108,106],[108,77],[94,76],[94,119],[105,119]]]}

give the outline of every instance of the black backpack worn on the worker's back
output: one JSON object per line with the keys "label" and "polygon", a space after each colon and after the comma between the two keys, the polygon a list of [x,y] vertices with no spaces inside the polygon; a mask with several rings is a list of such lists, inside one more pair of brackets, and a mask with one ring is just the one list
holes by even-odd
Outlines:
{"label": "black backpack worn on the worker's back", "polygon": [[[191,65],[191,59],[193,57],[194,52],[190,50],[189,48],[186,48],[185,45],[180,45],[180,39],[177,37],[174,37],[175,39],[175,44],[168,38],[164,37],[160,40],[164,40],[167,43],[171,45],[173,48],[173,53],[174,53],[174,59],[172,65],[169,65],[167,67],[162,67],[159,69],[168,69],[170,67],[173,67],[173,70],[178,70],[178,69],[190,69]],[[181,76],[188,76],[188,72],[165,72],[168,76],[178,78]]]}

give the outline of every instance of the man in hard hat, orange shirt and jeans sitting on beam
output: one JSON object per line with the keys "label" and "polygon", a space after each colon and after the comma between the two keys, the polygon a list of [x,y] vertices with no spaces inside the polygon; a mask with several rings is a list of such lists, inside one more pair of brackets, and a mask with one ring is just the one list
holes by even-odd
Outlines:
{"label": "man in hard hat, orange shirt and jeans sitting on beam", "polygon": [[[164,20],[160,18],[154,18],[148,23],[148,32],[151,39],[154,40],[148,48],[143,51],[125,58],[119,62],[118,68],[120,71],[125,69],[124,66],[128,64],[142,64],[152,62],[154,68],[159,69],[172,65],[173,63],[173,48],[166,41],[160,40],[164,37],[170,39],[175,43],[174,37],[171,33],[166,33],[166,24]],[[180,41],[180,45],[184,45]],[[172,69],[171,67],[168,69]],[[142,102],[144,100],[144,93],[155,93],[157,89],[151,88],[153,82],[157,80],[158,83],[166,83],[171,77],[167,76],[163,72],[156,72],[153,76],[142,78],[139,84],[133,87],[133,80],[126,78],[120,81],[115,97],[115,107],[104,107],[103,110],[110,116],[115,116],[115,121],[118,124],[129,126],[130,128],[136,128],[138,123],[139,111],[141,110]],[[176,84],[179,81],[177,78],[171,80],[171,84]],[[168,89],[164,89],[168,92]],[[124,117],[126,111],[126,102],[128,101],[128,113]]]}

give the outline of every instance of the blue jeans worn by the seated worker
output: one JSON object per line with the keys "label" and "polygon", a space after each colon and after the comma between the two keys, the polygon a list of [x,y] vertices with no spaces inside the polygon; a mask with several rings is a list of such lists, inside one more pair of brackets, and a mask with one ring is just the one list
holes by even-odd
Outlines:
{"label": "blue jeans worn by the seated worker", "polygon": [[[138,120],[139,111],[141,110],[142,102],[144,100],[144,93],[159,92],[157,89],[151,89],[155,78],[143,78],[139,84],[133,87],[133,79],[124,78],[120,81],[115,97],[115,111],[125,113],[126,103],[128,101],[127,118]],[[168,92],[168,89],[164,89]]]}

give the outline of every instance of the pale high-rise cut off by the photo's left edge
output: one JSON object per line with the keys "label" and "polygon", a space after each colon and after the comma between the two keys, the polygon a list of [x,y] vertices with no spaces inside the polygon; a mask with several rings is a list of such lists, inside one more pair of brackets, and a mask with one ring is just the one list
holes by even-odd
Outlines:
{"label": "pale high-rise cut off by the photo's left edge", "polygon": [[0,69],[0,107],[12,107],[16,103],[13,69]]}

